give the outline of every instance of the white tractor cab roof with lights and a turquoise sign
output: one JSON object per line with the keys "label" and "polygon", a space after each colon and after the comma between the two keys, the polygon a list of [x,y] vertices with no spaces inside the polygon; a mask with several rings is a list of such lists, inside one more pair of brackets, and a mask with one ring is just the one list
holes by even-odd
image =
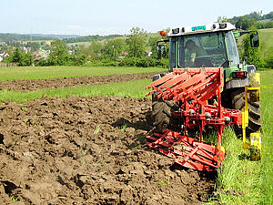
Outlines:
{"label": "white tractor cab roof with lights and a turquoise sign", "polygon": [[184,35],[192,35],[192,34],[200,34],[207,32],[217,32],[217,31],[230,31],[236,29],[230,23],[214,23],[203,26],[183,26],[170,29],[167,36],[184,36]]}

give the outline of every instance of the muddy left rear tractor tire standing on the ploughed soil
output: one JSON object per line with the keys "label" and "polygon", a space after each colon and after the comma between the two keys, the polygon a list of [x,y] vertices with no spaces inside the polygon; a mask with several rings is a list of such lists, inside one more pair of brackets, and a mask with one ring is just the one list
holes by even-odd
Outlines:
{"label": "muddy left rear tractor tire standing on the ploughed soil", "polygon": [[169,128],[179,130],[179,118],[173,115],[178,110],[178,104],[172,100],[162,100],[162,98],[152,99],[153,126],[156,131]]}

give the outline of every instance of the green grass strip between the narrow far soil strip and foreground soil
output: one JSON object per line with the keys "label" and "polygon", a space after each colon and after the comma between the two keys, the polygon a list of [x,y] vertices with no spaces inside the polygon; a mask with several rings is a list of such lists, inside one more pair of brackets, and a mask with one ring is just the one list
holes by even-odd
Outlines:
{"label": "green grass strip between the narrow far soil strip and foreground soil", "polygon": [[48,97],[66,97],[67,95],[76,95],[81,97],[118,96],[142,98],[145,97],[147,93],[145,87],[147,87],[150,82],[151,79],[142,79],[96,86],[44,89],[25,93],[19,91],[0,90],[0,101],[13,100],[15,102],[25,102],[29,99],[42,97],[44,94]]}

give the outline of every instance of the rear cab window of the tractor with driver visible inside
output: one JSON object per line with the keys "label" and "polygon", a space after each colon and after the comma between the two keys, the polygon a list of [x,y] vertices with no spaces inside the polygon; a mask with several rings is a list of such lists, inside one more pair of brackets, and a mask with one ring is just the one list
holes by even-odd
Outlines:
{"label": "rear cab window of the tractor with driver visible inside", "polygon": [[228,67],[223,33],[176,36],[170,39],[170,68]]}

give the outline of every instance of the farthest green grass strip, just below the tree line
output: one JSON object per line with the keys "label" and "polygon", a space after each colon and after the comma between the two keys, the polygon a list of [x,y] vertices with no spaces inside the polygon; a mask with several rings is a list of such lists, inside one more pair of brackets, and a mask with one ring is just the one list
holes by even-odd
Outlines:
{"label": "farthest green grass strip, just below the tree line", "polygon": [[0,80],[91,77],[149,72],[164,72],[157,67],[0,67]]}

